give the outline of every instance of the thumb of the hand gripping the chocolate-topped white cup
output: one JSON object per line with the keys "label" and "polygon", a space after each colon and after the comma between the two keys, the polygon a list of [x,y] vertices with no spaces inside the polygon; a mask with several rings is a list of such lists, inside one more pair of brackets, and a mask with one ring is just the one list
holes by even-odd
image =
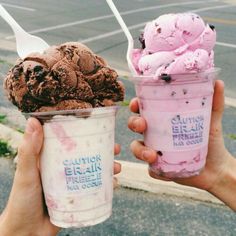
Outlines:
{"label": "thumb of the hand gripping the chocolate-topped white cup", "polygon": [[17,169],[25,173],[38,168],[38,157],[43,146],[43,129],[35,118],[29,118],[23,140],[18,148]]}

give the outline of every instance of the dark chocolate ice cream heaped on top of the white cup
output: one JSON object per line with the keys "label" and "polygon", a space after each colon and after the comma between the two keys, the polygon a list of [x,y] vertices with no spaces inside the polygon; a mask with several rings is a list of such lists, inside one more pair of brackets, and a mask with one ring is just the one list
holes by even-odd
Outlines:
{"label": "dark chocolate ice cream heaped on top of the white cup", "polygon": [[18,60],[4,87],[22,112],[68,110],[122,101],[124,87],[117,77],[103,58],[70,42]]}

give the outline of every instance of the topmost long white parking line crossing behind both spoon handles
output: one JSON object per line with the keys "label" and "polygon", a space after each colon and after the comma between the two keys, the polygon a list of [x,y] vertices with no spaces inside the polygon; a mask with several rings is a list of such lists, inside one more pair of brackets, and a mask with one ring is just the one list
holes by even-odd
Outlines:
{"label": "topmost long white parking line crossing behind both spoon handles", "polygon": [[[218,0],[209,0],[209,1],[191,1],[191,2],[183,2],[183,3],[171,3],[171,4],[164,4],[164,5],[158,5],[158,6],[151,6],[151,7],[143,7],[135,10],[130,10],[130,11],[124,11],[121,12],[121,15],[129,15],[129,14],[134,14],[138,12],[143,12],[143,11],[151,11],[151,10],[156,10],[156,9],[162,9],[162,8],[168,8],[168,7],[176,7],[176,6],[184,6],[184,5],[193,5],[193,4],[204,4],[204,3],[210,3],[210,2],[218,2]],[[37,30],[32,30],[29,31],[28,33],[30,34],[36,34],[36,33],[41,33],[41,32],[48,32],[51,30],[56,30],[56,29],[61,29],[61,28],[66,28],[70,26],[75,26],[75,25],[80,25],[80,24],[85,24],[85,23],[90,23],[94,21],[99,21],[99,20],[105,20],[114,17],[113,14],[106,15],[106,16],[99,16],[99,17],[94,17],[90,19],[85,19],[85,20],[80,20],[80,21],[74,21],[74,22],[68,22],[65,24],[60,24],[60,25],[55,25],[55,26],[50,26],[50,27],[45,27]],[[12,39],[14,38],[14,35],[7,36],[5,39]]]}

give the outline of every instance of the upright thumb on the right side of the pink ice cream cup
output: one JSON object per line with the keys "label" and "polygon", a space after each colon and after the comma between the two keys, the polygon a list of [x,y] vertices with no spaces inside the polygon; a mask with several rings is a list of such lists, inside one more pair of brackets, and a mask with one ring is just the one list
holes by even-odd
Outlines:
{"label": "upright thumb on the right side of the pink ice cream cup", "polygon": [[211,133],[222,135],[222,118],[224,112],[224,82],[216,80],[213,95],[212,116],[211,116]]}

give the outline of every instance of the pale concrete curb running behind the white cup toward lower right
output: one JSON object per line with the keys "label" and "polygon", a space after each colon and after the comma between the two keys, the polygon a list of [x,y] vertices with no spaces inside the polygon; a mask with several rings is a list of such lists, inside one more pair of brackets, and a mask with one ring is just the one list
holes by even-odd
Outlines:
{"label": "pale concrete curb running behind the white cup toward lower right", "polygon": [[[14,149],[17,149],[23,134],[3,124],[0,124],[0,130],[0,139],[8,141],[9,145]],[[151,178],[148,175],[148,168],[145,164],[128,161],[119,162],[122,165],[122,172],[116,175],[119,186],[148,191],[155,194],[184,197],[221,205],[224,204],[206,191],[179,185],[174,182],[166,182]]]}

